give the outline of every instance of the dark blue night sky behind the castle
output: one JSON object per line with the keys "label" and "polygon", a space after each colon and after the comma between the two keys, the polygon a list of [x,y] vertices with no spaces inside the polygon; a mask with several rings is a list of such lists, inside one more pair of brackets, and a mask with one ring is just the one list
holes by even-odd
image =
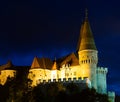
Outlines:
{"label": "dark blue night sky behind the castle", "polygon": [[99,51],[108,67],[108,89],[120,95],[119,0],[0,1],[0,64],[31,65],[34,56],[59,58],[76,51],[85,8]]}

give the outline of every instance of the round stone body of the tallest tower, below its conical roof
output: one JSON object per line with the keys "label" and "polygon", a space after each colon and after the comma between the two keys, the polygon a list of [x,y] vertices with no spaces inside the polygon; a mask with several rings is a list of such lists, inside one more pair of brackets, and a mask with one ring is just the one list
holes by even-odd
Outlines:
{"label": "round stone body of the tallest tower, below its conical roof", "polygon": [[79,64],[81,67],[82,77],[88,77],[91,81],[91,86],[97,89],[96,68],[97,68],[97,51],[83,50],[79,51]]}

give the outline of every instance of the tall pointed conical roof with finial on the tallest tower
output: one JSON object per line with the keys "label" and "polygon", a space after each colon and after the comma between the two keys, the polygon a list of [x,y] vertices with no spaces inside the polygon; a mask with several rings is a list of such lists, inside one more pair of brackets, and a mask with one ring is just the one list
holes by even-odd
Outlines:
{"label": "tall pointed conical roof with finial on the tallest tower", "polygon": [[86,9],[85,12],[85,21],[81,26],[80,29],[80,38],[78,42],[78,51],[81,50],[86,50],[86,49],[91,49],[91,50],[97,50],[94,42],[94,37],[91,31],[91,27],[88,21],[88,10]]}

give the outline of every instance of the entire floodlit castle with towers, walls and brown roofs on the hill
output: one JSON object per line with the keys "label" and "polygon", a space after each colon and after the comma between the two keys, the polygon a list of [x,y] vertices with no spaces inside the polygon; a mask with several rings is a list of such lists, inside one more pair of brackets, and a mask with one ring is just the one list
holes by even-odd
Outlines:
{"label": "entire floodlit castle with towers, walls and brown roofs on the hill", "polygon": [[[98,50],[95,45],[92,30],[86,13],[85,21],[81,25],[80,37],[76,52],[52,61],[49,58],[33,59],[29,69],[28,78],[32,80],[31,86],[44,82],[84,82],[97,92],[108,94],[111,102],[114,102],[115,93],[107,91],[107,68],[98,67]],[[15,69],[10,69],[12,64],[0,66],[0,83],[5,84],[7,77],[14,77]]]}

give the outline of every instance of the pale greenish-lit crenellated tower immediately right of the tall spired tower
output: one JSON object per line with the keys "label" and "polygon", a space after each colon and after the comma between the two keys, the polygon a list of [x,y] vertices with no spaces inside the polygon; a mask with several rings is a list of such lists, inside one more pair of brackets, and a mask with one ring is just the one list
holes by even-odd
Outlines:
{"label": "pale greenish-lit crenellated tower immediately right of the tall spired tower", "polygon": [[99,93],[106,94],[107,93],[106,74],[108,72],[108,69],[98,67],[96,71],[97,71],[97,91]]}

